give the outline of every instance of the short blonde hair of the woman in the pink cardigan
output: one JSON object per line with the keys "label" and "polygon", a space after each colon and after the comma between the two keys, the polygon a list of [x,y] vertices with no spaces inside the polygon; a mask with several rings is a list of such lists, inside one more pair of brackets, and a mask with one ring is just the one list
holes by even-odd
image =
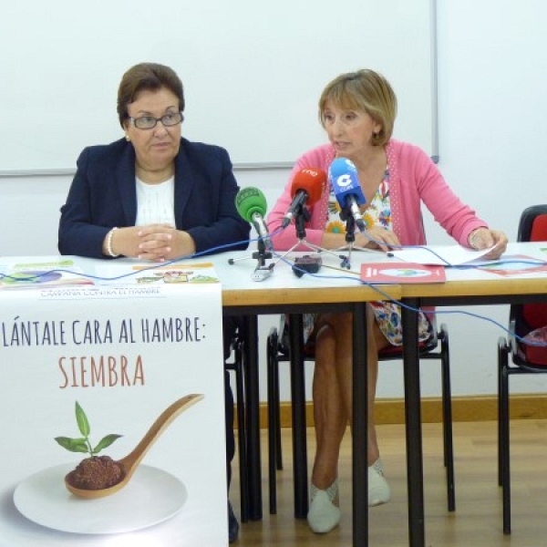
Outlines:
{"label": "short blonde hair of the woman in the pink cardigan", "polygon": [[319,120],[325,127],[325,104],[361,110],[382,126],[372,138],[375,146],[385,145],[393,134],[397,117],[397,97],[389,82],[374,70],[362,69],[335,77],[319,98]]}

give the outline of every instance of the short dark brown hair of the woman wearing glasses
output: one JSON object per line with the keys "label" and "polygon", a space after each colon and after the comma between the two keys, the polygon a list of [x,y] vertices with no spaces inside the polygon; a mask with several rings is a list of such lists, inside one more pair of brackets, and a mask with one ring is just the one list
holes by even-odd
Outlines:
{"label": "short dark brown hair of the woman wearing glasses", "polygon": [[118,118],[119,125],[129,118],[128,107],[137,100],[143,90],[157,91],[167,88],[179,99],[179,110],[184,110],[184,91],[181,78],[170,67],[158,63],[140,63],[121,77],[118,88]]}

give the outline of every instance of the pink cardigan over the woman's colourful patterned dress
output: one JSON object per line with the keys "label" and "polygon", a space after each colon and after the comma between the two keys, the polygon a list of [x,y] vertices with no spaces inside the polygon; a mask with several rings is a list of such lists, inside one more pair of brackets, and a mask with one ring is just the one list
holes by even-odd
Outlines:
{"label": "pink cardigan over the woman's colourful patterned dress", "polygon": [[[450,190],[437,166],[428,155],[418,147],[391,139],[386,146],[389,166],[389,192],[393,230],[403,245],[423,245],[426,243],[423,220],[420,210],[423,201],[439,224],[461,245],[469,246],[470,232],[480,227],[488,227]],[[309,150],[296,161],[283,195],[269,213],[267,223],[270,233],[281,227],[285,212],[291,205],[291,185],[294,174],[306,167],[319,168],[328,172],[335,159],[335,149],[331,144]],[[328,191],[320,201],[310,208],[311,220],[306,224],[306,241],[321,244],[325,231],[328,206]],[[296,243],[294,226],[272,237],[274,248],[282,251]],[[305,251],[305,248],[298,249]]]}

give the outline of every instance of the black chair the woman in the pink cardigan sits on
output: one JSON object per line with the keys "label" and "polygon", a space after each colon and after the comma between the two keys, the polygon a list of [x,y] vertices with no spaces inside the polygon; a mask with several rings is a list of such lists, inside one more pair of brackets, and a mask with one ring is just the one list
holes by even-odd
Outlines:
{"label": "black chair the woman in the pink cardigan sits on", "polygon": [[[267,338],[268,366],[268,456],[269,456],[269,489],[270,513],[277,512],[276,470],[283,469],[283,454],[281,448],[280,395],[279,395],[279,364],[290,362],[290,346],[288,326],[282,319],[282,333],[273,327]],[[452,398],[450,388],[449,332],[446,325],[440,325],[439,331],[434,330],[431,337],[419,346],[420,359],[439,359],[442,382],[442,416],[443,416],[443,448],[444,465],[447,470],[447,499],[449,511],[456,509],[456,494],[454,487],[454,450],[452,440]],[[390,361],[402,358],[400,347],[387,347],[378,355],[379,361]],[[313,361],[314,348],[304,346],[304,360]],[[294,404],[294,401],[293,401]],[[304,439],[302,439],[304,442]],[[304,445],[305,446],[305,445]],[[307,481],[307,477],[304,478]],[[300,480],[295,482],[302,483]],[[307,507],[306,507],[307,511]]]}

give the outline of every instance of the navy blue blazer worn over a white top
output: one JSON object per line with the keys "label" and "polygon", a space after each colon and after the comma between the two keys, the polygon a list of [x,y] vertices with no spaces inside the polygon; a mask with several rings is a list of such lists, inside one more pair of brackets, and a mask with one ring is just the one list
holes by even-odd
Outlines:
{"label": "navy blue blazer worn over a white top", "polygon": [[[181,139],[175,158],[175,222],[178,230],[191,234],[196,252],[236,242],[242,243],[220,251],[247,248],[251,226],[235,208],[238,191],[226,150]],[[136,218],[133,145],[119,139],[83,150],[61,207],[59,252],[105,258],[102,245],[108,231],[134,226]]]}

